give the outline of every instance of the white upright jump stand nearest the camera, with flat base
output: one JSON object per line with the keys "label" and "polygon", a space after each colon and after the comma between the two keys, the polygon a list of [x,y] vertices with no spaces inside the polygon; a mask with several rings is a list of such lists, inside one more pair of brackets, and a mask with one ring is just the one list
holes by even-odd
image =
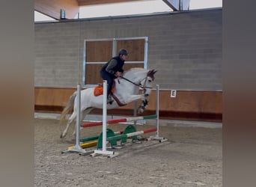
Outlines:
{"label": "white upright jump stand nearest the camera, with flat base", "polygon": [[101,154],[105,156],[113,156],[114,151],[106,150],[106,126],[107,126],[107,84],[106,80],[103,80],[103,149],[94,150],[94,155]]}

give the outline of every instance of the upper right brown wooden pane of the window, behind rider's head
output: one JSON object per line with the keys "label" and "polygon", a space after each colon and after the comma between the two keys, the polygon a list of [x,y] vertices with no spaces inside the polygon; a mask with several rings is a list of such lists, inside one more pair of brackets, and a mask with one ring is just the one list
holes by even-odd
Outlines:
{"label": "upper right brown wooden pane of the window, behind rider's head", "polygon": [[127,49],[129,58],[127,61],[144,61],[145,40],[118,40],[117,54],[120,49]]}

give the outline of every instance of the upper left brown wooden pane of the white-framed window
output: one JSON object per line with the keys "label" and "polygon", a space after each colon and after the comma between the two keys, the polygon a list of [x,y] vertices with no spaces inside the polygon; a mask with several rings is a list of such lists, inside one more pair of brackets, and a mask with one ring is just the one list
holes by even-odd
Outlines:
{"label": "upper left brown wooden pane of the white-framed window", "polygon": [[109,61],[112,58],[112,45],[112,41],[86,41],[86,61]]}

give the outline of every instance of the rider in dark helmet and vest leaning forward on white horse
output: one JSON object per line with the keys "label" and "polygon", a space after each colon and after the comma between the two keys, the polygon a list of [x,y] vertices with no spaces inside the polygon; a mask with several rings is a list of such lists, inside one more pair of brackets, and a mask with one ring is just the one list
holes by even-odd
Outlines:
{"label": "rider in dark helmet and vest leaning forward on white horse", "polygon": [[128,52],[126,49],[121,49],[118,53],[118,56],[111,58],[100,70],[100,76],[103,80],[108,82],[108,102],[112,104],[113,100],[112,97],[109,95],[112,85],[113,79],[118,78],[121,76],[121,73],[124,73],[123,66],[124,61],[128,58]]}

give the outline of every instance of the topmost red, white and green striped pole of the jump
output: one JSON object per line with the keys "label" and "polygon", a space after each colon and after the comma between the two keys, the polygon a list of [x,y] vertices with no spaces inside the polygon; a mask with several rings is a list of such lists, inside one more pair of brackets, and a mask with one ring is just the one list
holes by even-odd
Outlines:
{"label": "topmost red, white and green striped pole of the jump", "polygon": [[[132,120],[148,120],[148,119],[154,119],[156,118],[157,115],[148,115],[148,116],[138,116],[138,117],[127,117],[127,118],[122,118],[122,119],[116,119],[116,120],[107,120],[108,124],[113,124],[113,123],[122,123],[122,122],[128,122]],[[90,126],[102,126],[103,122],[91,122],[91,123],[84,123],[81,126],[82,127],[90,127]]]}

